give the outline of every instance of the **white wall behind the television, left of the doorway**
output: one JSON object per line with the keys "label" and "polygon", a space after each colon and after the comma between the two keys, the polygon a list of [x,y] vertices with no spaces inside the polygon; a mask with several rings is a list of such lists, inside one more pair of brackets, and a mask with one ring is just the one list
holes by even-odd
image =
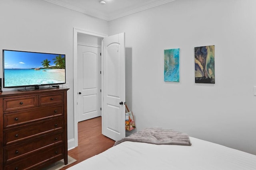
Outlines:
{"label": "white wall behind the television, left of the doorway", "polygon": [[[43,0],[0,1],[0,50],[66,54],[68,140],[74,140],[73,28],[107,34],[108,22]],[[2,53],[0,53],[2,77]],[[13,89],[4,89],[13,90]],[[69,148],[73,146],[68,145]]]}

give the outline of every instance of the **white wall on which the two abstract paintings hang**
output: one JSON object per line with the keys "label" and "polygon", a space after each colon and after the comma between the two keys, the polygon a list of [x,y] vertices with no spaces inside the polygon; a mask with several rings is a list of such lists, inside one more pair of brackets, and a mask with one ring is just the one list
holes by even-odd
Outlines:
{"label": "white wall on which the two abstract paintings hang", "polygon": [[[256,1],[176,0],[110,21],[132,51],[137,131],[160,126],[256,154]],[[215,45],[215,84],[196,84],[194,47]],[[164,49],[180,48],[180,82]]]}

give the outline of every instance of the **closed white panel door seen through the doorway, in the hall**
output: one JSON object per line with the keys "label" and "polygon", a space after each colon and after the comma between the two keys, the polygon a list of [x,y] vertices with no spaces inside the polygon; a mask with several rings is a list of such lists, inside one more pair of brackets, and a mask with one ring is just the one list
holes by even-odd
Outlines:
{"label": "closed white panel door seen through the doorway, in the hall", "polygon": [[101,115],[101,48],[78,45],[78,121]]}

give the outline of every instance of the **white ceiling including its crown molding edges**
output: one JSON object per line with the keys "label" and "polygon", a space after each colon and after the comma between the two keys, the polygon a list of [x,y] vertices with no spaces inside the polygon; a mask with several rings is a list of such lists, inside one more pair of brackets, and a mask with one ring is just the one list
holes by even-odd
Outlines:
{"label": "white ceiling including its crown molding edges", "polygon": [[114,20],[174,0],[44,0],[103,20]]}

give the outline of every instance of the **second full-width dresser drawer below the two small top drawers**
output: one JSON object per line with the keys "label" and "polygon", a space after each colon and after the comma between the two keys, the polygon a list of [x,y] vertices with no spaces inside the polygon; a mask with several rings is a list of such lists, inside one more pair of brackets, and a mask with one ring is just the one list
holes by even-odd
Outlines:
{"label": "second full-width dresser drawer below the two small top drawers", "polygon": [[34,125],[6,130],[4,131],[4,146],[61,129],[64,129],[63,117],[39,121]]}

